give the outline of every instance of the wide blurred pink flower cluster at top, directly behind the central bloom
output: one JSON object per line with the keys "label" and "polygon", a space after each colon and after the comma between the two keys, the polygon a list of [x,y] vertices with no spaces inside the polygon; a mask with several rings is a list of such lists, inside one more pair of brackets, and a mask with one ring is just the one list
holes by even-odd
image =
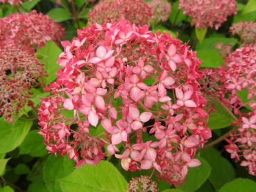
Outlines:
{"label": "wide blurred pink flower cluster at top, directly behind the central bloom", "polygon": [[107,0],[89,10],[88,23],[112,23],[124,18],[133,24],[144,25],[151,21],[152,16],[152,10],[144,0]]}

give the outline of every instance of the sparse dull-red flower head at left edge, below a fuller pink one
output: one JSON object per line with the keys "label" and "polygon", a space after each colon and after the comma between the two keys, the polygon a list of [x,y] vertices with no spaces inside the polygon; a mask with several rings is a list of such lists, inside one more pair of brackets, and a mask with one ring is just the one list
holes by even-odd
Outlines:
{"label": "sparse dull-red flower head at left edge, below a fuller pink one", "polygon": [[0,115],[12,122],[31,97],[29,89],[44,75],[33,49],[0,49]]}

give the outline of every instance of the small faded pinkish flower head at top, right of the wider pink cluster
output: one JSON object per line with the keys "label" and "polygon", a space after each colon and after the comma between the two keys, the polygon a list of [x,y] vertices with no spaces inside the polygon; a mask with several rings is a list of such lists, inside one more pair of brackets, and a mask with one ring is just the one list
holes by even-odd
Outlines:
{"label": "small faded pinkish flower head at top, right of the wider pink cluster", "polygon": [[153,11],[153,21],[167,21],[171,14],[171,3],[166,0],[152,0],[148,3]]}

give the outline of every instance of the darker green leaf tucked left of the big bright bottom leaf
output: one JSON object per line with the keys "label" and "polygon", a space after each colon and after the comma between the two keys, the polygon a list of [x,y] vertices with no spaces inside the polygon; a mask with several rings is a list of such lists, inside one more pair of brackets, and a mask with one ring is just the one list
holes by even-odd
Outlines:
{"label": "darker green leaf tucked left of the big bright bottom leaf", "polygon": [[49,155],[44,163],[43,176],[49,191],[61,191],[60,178],[66,177],[75,170],[73,160],[65,157]]}

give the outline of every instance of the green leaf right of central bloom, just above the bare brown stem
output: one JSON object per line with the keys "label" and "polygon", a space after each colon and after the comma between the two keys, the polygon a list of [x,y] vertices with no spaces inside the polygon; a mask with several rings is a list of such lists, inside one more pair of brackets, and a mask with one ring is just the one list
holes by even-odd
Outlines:
{"label": "green leaf right of central bloom, just above the bare brown stem", "polygon": [[223,105],[221,105],[218,100],[209,98],[209,101],[214,102],[213,104],[215,108],[215,111],[210,113],[209,121],[207,123],[211,130],[226,128],[231,123],[234,123],[234,119],[232,118],[231,114],[227,112],[225,108],[223,108]]}

